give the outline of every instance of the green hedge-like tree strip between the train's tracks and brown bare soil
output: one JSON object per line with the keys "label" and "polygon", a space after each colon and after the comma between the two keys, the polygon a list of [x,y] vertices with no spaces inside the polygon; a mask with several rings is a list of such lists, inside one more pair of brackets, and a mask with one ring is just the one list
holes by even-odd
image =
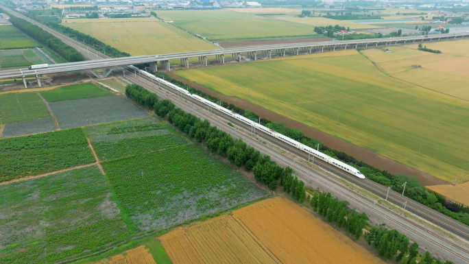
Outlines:
{"label": "green hedge-like tree strip between the train's tracks and brown bare soil", "polygon": [[[174,80],[169,75],[165,73],[156,73],[158,77],[165,78],[168,82],[176,84],[180,87],[186,88],[187,85],[179,82],[178,80]],[[433,208],[448,217],[452,217],[457,221],[461,221],[461,223],[469,224],[469,207],[464,206],[462,204],[458,204],[456,202],[448,202],[446,201],[446,197],[440,195],[439,193],[435,193],[433,191],[429,191],[426,189],[416,178],[412,176],[406,176],[402,174],[392,174],[386,170],[381,170],[372,165],[364,163],[363,161],[357,160],[353,156],[346,154],[345,152],[340,152],[336,149],[332,149],[327,147],[326,145],[322,144],[317,139],[313,139],[309,136],[306,136],[304,132],[298,129],[289,128],[285,125],[285,123],[277,123],[272,122],[269,119],[265,119],[259,117],[255,112],[244,110],[243,108],[239,108],[234,106],[234,104],[228,104],[226,101],[221,101],[219,98],[214,97],[212,95],[208,95],[196,88],[191,86],[187,87],[190,93],[199,95],[209,101],[213,101],[215,104],[221,104],[225,108],[236,112],[238,115],[242,115],[252,121],[261,123],[265,125],[267,128],[270,128],[280,134],[288,136],[290,139],[294,139],[304,145],[312,147],[313,149],[319,149],[320,152],[341,160],[342,162],[359,169],[364,176],[373,180],[374,182],[378,182],[383,184],[387,187],[391,187],[394,191],[398,193],[402,193],[405,191],[404,195],[409,197],[416,202],[420,202],[430,208]],[[319,146],[318,146],[319,145]],[[404,183],[407,182],[405,190],[404,190]]]}

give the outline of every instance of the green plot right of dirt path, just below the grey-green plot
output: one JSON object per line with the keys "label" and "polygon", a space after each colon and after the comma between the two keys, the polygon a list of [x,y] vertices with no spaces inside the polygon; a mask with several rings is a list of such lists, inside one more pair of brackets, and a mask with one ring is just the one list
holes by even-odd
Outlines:
{"label": "green plot right of dirt path, just below the grey-green plot", "polygon": [[188,143],[162,128],[154,119],[137,119],[86,129],[99,160],[110,160]]}

